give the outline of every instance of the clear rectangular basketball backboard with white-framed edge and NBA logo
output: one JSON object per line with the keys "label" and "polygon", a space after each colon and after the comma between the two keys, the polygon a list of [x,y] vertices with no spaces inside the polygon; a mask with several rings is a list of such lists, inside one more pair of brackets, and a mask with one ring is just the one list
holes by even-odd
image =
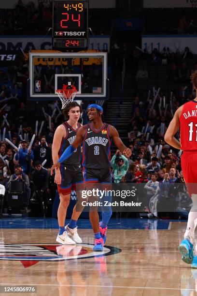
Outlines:
{"label": "clear rectangular basketball backboard with white-framed edge and NBA logo", "polygon": [[76,100],[104,100],[108,97],[107,53],[29,54],[28,99],[56,100],[57,89],[71,82]]}

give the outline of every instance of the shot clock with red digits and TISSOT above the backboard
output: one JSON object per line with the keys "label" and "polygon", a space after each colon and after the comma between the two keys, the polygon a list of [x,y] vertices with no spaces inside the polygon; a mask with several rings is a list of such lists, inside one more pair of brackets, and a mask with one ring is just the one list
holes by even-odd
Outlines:
{"label": "shot clock with red digits and TISSOT above the backboard", "polygon": [[83,49],[88,44],[88,0],[53,0],[53,48]]}

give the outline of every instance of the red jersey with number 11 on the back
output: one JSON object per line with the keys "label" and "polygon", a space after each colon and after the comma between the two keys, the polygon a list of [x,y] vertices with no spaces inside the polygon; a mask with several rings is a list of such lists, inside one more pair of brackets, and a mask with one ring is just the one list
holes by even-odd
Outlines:
{"label": "red jersey with number 11 on the back", "polygon": [[183,105],[180,116],[181,149],[197,151],[197,101]]}

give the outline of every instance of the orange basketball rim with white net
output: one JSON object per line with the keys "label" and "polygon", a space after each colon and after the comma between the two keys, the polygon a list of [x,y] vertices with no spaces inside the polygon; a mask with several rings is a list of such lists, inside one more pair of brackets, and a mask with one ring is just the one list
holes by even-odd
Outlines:
{"label": "orange basketball rim with white net", "polygon": [[77,89],[74,86],[64,84],[63,89],[57,89],[56,93],[58,94],[58,97],[62,102],[62,109],[64,109],[69,103],[74,100],[77,94]]}

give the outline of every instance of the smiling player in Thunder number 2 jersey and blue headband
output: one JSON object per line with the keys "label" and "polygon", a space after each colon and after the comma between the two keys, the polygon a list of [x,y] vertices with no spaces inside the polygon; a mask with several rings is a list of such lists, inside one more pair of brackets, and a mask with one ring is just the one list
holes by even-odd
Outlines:
{"label": "smiling player in Thunder number 2 jersey and blue headband", "polygon": [[[83,167],[84,181],[106,185],[112,183],[110,171],[110,146],[111,139],[116,147],[127,157],[130,157],[131,150],[121,141],[117,130],[102,122],[103,109],[98,104],[91,104],[87,108],[87,116],[90,123],[82,126],[77,132],[74,142],[64,151],[58,162],[54,162],[51,168],[58,169],[60,164],[72,155],[73,151],[83,142]],[[110,185],[111,186],[111,185]],[[112,216],[112,209],[109,207],[102,211],[102,222],[99,224],[99,214],[97,210],[89,212],[90,222],[95,235],[94,251],[102,251],[106,241],[107,224]]]}

